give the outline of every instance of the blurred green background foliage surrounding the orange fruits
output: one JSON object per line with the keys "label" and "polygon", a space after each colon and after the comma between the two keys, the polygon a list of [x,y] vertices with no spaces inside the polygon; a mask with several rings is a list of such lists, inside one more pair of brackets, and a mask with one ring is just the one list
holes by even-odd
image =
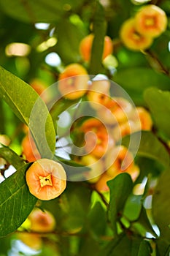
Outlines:
{"label": "blurred green background foliage surrounding the orange fruits", "polygon": [[[120,26],[143,4],[158,5],[170,20],[169,0],[101,0],[99,7],[96,3],[0,0],[0,65],[28,84],[38,79],[48,87],[58,80],[66,65],[79,63],[89,74],[103,73],[122,86],[136,106],[149,108],[154,121],[152,132],[142,135],[136,157],[141,174],[134,185],[126,176],[121,181],[109,181],[110,202],[107,194],[98,194],[89,184],[69,183],[61,199],[42,203],[41,207],[54,215],[57,229],[42,235],[41,249],[24,246],[14,233],[0,238],[1,256],[169,255],[170,23],[149,50],[129,50],[120,40]],[[111,37],[114,50],[112,57],[101,62],[98,47],[87,64],[79,46],[93,29],[101,40],[104,34]],[[56,112],[62,110],[62,104]],[[23,123],[3,99],[0,115],[0,132],[9,136],[10,148],[20,155]],[[133,189],[142,181],[145,189],[135,195]],[[117,189],[112,189],[112,183]],[[152,187],[155,192],[151,205]],[[120,212],[122,216],[117,217]]]}

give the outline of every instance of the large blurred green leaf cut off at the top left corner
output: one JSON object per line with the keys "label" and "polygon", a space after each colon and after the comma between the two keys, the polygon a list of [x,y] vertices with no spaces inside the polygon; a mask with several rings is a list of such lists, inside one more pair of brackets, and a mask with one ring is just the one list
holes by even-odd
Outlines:
{"label": "large blurred green leaf cut off at the top left corner", "polygon": [[30,23],[54,22],[66,14],[68,10],[76,10],[81,4],[82,1],[76,0],[0,1],[1,10],[6,12],[7,15]]}

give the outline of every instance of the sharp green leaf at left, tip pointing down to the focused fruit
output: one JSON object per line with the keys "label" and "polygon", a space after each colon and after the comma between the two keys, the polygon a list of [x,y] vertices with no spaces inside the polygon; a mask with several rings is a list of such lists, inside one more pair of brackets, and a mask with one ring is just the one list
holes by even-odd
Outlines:
{"label": "sharp green leaf at left, tip pointing down to the focused fruit", "polygon": [[0,96],[20,121],[27,124],[42,157],[52,158],[55,129],[45,102],[27,83],[0,67]]}

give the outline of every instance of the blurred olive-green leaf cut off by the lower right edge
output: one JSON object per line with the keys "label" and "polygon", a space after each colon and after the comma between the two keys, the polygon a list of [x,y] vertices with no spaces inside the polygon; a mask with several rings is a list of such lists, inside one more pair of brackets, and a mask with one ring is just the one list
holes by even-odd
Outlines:
{"label": "blurred olive-green leaf cut off by the lower right edge", "polygon": [[158,180],[152,197],[152,215],[156,225],[161,231],[161,237],[170,241],[169,217],[170,217],[170,169],[164,171]]}

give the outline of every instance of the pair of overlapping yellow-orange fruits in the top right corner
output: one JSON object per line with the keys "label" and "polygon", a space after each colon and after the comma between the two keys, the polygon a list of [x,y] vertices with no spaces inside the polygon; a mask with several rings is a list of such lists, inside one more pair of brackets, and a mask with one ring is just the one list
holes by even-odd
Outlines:
{"label": "pair of overlapping yellow-orange fruits in the top right corner", "polygon": [[134,18],[125,20],[120,28],[120,39],[130,50],[146,50],[153,39],[159,37],[168,23],[166,13],[154,4],[148,4],[136,12]]}

